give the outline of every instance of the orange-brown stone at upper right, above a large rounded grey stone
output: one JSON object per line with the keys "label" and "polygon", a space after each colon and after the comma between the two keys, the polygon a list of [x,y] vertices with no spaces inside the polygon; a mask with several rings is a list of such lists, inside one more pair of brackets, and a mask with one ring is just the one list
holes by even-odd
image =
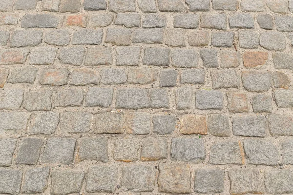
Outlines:
{"label": "orange-brown stone at upper right, above a large rounded grey stone", "polygon": [[261,66],[268,60],[268,52],[245,52],[243,63],[245,67]]}

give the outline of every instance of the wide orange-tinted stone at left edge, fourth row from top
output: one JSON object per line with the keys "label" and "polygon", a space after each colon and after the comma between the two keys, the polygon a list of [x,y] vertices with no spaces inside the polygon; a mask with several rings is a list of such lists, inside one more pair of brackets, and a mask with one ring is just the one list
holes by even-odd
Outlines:
{"label": "wide orange-tinted stone at left edge, fourth row from top", "polygon": [[3,49],[0,51],[0,64],[24,64],[29,49]]}

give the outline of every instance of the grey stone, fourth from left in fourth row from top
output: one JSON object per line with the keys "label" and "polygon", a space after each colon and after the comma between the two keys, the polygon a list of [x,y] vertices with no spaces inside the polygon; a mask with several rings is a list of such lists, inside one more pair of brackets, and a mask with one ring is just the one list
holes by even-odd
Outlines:
{"label": "grey stone, fourth from left in fourth row from top", "polygon": [[111,65],[112,54],[110,47],[91,47],[87,49],[84,64],[86,66]]}

